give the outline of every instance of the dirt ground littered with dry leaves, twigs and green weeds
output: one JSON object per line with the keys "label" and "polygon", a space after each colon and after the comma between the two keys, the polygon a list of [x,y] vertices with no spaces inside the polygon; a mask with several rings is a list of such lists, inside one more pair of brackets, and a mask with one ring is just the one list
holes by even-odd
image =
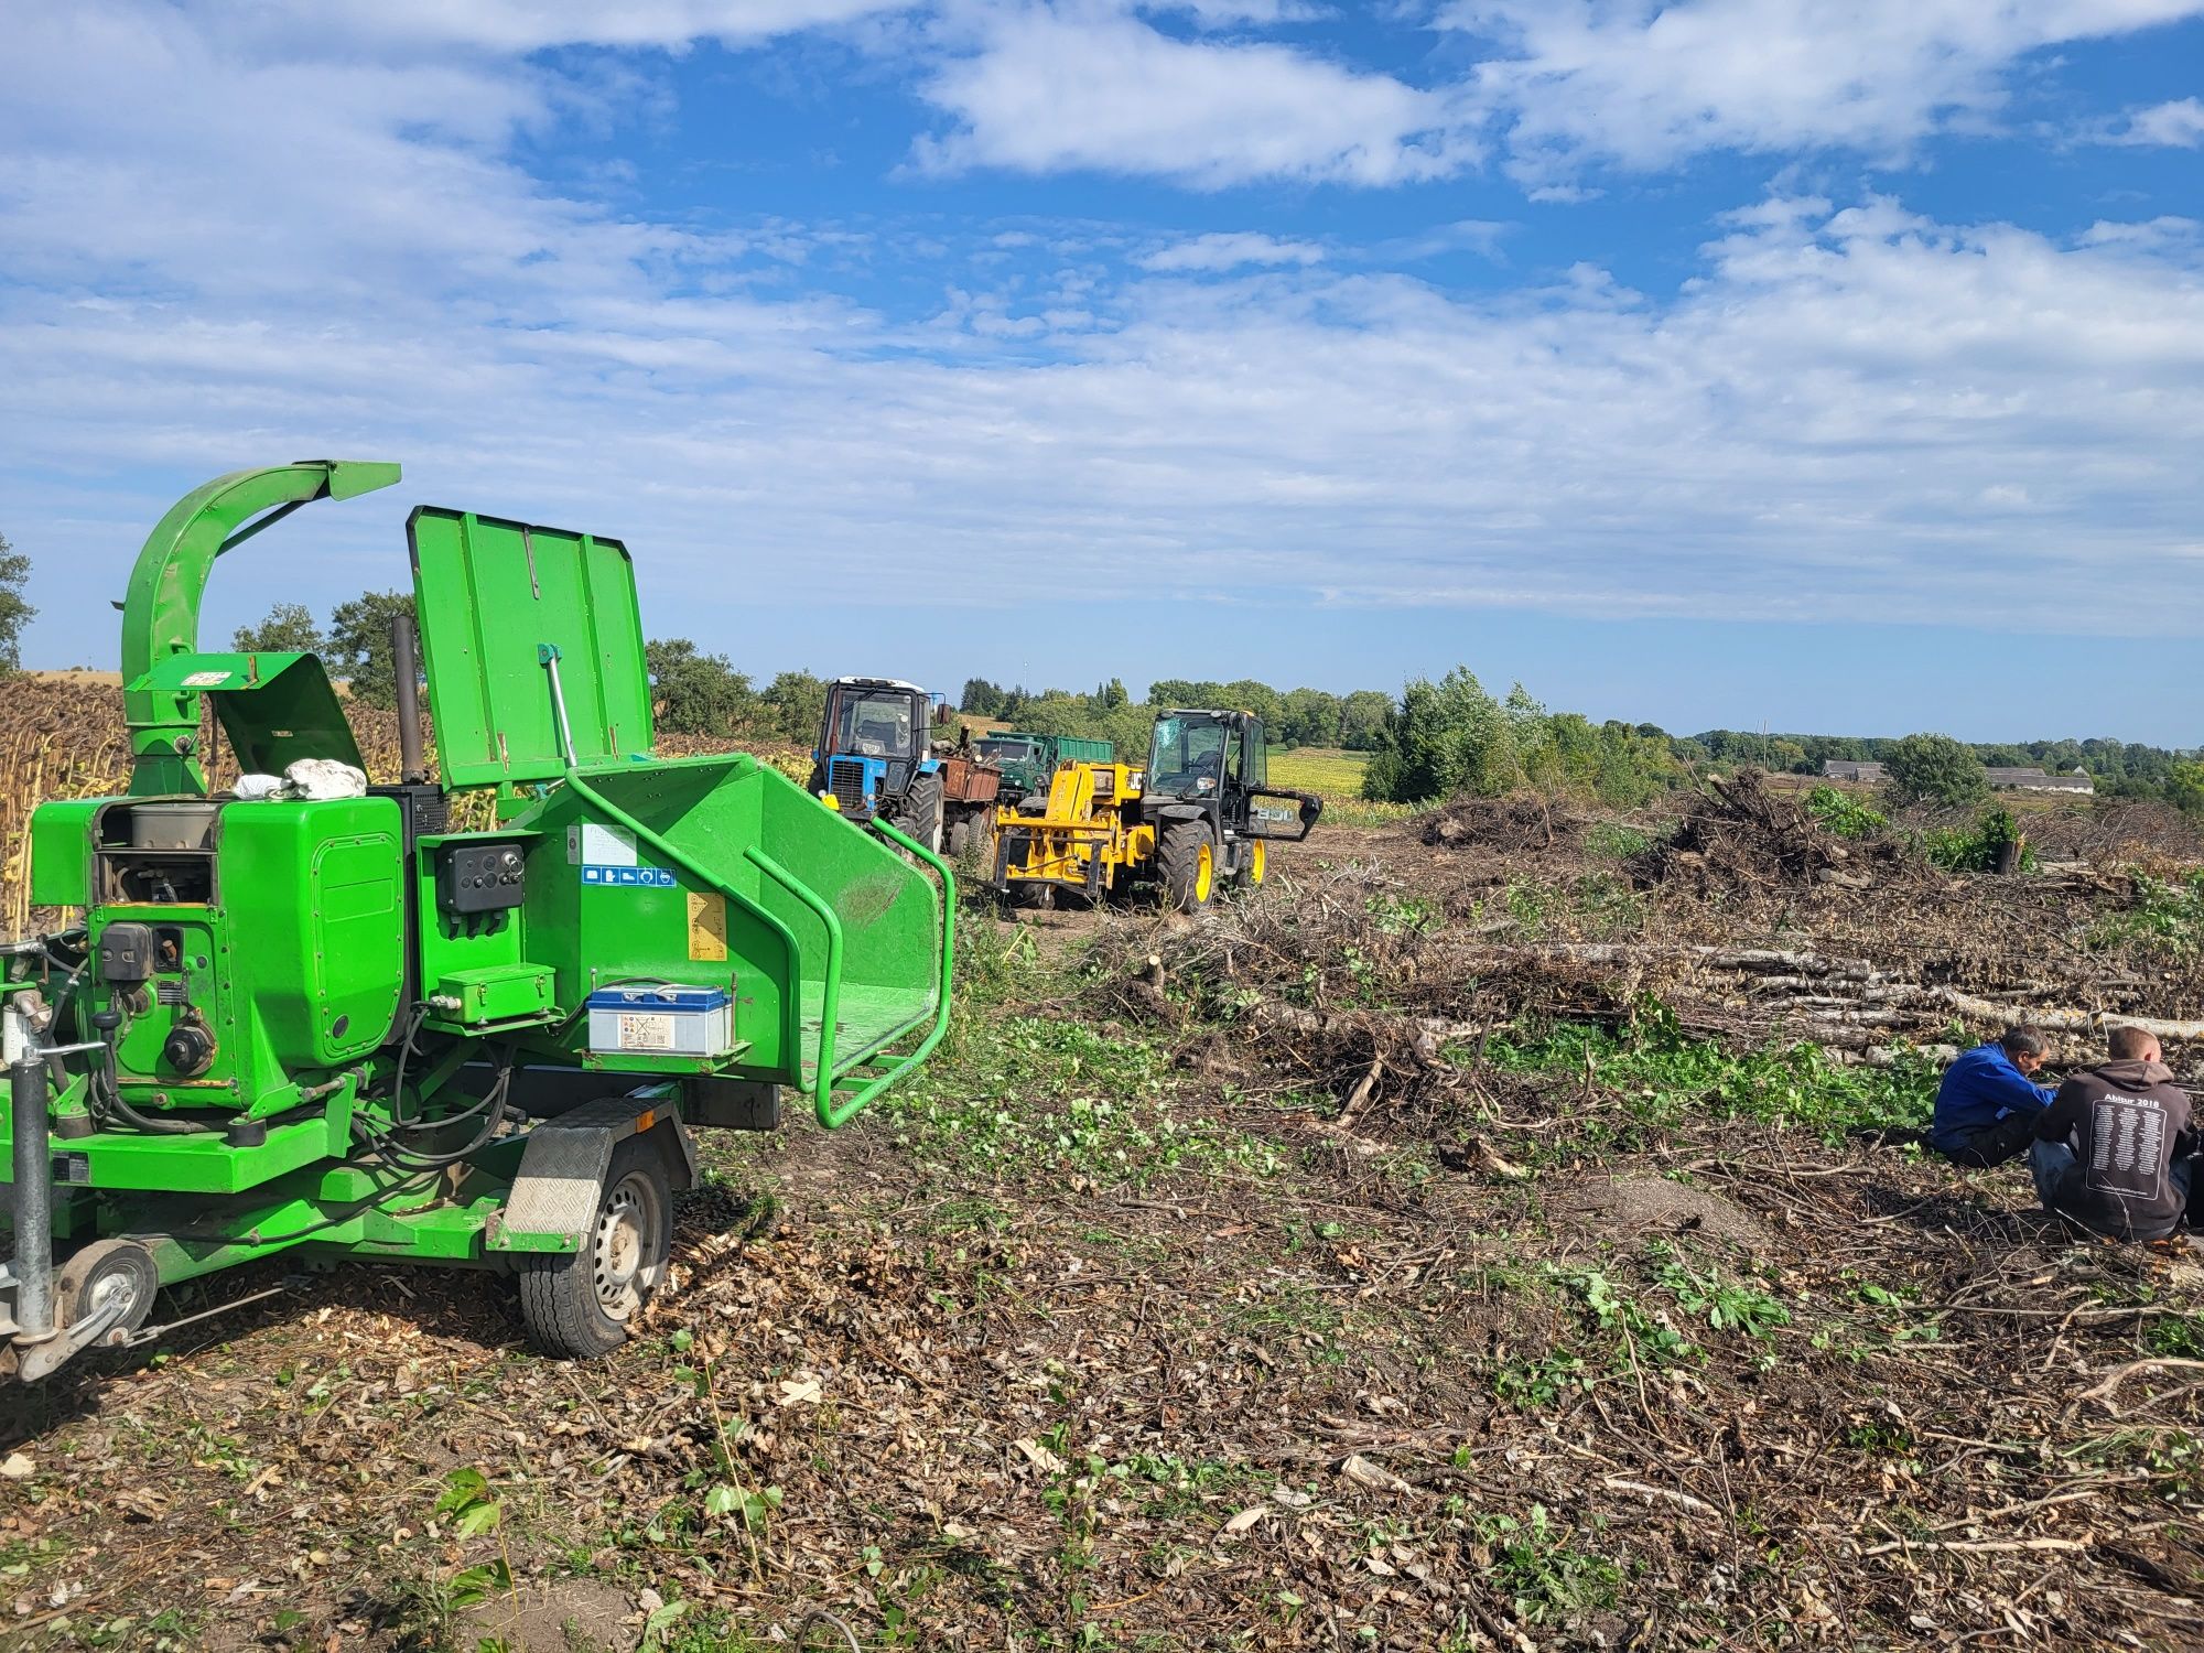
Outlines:
{"label": "dirt ground littered with dry leaves, twigs and green weeds", "polygon": [[1662,961],[2162,1016],[2193,965],[2054,957],[2109,873],[1644,882],[1660,831],[1329,829],[1203,919],[972,910],[926,1080],[710,1137],[617,1355],[348,1267],[11,1397],[0,1642],[2204,1642],[2186,1247],[1854,1106],[1924,1102],[1898,1023]]}

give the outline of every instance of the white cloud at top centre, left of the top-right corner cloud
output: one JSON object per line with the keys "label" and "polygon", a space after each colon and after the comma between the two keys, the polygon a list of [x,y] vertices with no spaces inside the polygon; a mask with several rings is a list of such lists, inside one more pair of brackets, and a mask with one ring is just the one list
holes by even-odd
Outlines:
{"label": "white cloud at top centre, left of the top-right corner cloud", "polygon": [[1117,172],[1221,190],[1389,185],[1477,159],[1448,99],[1278,44],[1177,40],[1106,0],[987,7],[926,84],[934,172]]}

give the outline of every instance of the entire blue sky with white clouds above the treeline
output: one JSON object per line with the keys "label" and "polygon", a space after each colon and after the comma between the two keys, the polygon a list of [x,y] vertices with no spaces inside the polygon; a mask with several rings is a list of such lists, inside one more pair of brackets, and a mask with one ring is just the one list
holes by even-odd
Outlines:
{"label": "entire blue sky with white clouds above the treeline", "polygon": [[2204,0],[0,0],[0,531],[617,533],[754,674],[2200,741]]}

